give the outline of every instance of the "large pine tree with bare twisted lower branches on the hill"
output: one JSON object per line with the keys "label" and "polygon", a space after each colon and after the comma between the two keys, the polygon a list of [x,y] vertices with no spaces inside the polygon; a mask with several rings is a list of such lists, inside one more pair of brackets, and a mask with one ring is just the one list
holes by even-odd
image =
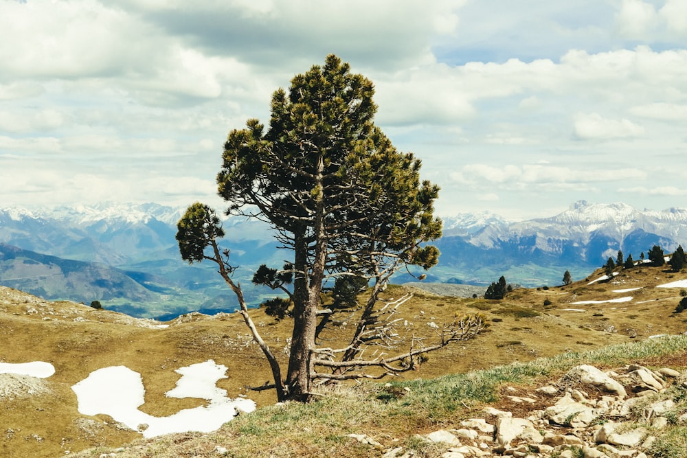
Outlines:
{"label": "large pine tree with bare twisted lower branches on the hill", "polygon": [[[398,345],[390,340],[398,335],[396,321],[385,319],[386,312],[375,304],[399,268],[427,269],[437,263],[438,249],[428,242],[442,231],[441,220],[433,216],[439,188],[420,181],[420,160],[398,152],[374,125],[373,93],[370,80],[350,73],[337,56],[327,56],[324,67],[315,65],[295,76],[288,93],[273,93],[267,129],[249,119],[225,143],[217,183],[226,213],[269,222],[280,246],[293,254],[281,268],[261,267],[253,279],[289,298],[278,307],[282,317],[293,318],[285,378],[249,316],[240,285],[231,278],[234,267],[229,251],[218,247],[223,231],[214,210],[191,205],[177,225],[183,259],[216,262],[236,294],[240,313],[271,366],[278,400],[308,400],[314,380],[379,378],[409,370],[423,352],[471,339],[482,328],[479,316],[466,317],[442,328],[435,345],[411,342],[404,353],[381,360],[360,356],[365,343]],[[369,284],[369,296],[359,322],[353,323],[350,344],[321,349],[317,334],[334,312],[320,306],[323,284],[343,277],[357,280],[340,282],[342,287]],[[374,367],[383,374],[368,371]]]}

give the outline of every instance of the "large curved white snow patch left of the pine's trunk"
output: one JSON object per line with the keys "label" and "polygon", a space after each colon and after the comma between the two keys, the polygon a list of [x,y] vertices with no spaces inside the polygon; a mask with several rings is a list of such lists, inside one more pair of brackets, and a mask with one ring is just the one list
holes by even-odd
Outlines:
{"label": "large curved white snow patch left of the pine's trunk", "polygon": [[[154,417],[138,409],[146,393],[141,374],[124,366],[98,369],[71,387],[76,393],[78,410],[84,415],[103,413],[117,422],[138,430],[144,437],[198,431],[210,433],[232,420],[237,410],[251,412],[256,403],[245,398],[227,398],[227,391],[216,387],[217,380],[227,378],[225,365],[214,360],[177,369],[181,378],[168,391],[170,398],[201,398],[207,406],[183,409],[168,417]],[[147,425],[147,427],[145,426]]]}

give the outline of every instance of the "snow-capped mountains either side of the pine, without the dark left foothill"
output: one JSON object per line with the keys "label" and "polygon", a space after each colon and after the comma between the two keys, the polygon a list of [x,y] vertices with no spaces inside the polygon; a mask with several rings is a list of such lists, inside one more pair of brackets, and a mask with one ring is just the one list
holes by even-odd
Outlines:
{"label": "snow-capped mountains either side of the pine, without the dark left foothill", "polygon": [[[183,211],[153,203],[5,208],[0,209],[0,243],[109,264],[146,287],[153,278],[180,290],[223,290],[212,266],[188,266],[179,257],[174,235]],[[244,284],[250,284],[251,272],[260,264],[280,265],[288,257],[276,249],[264,223],[232,217],[223,226],[223,244],[241,266],[237,275],[243,275]],[[687,244],[687,209],[638,210],[622,203],[579,201],[550,218],[519,222],[488,211],[460,214],[444,218],[444,236],[436,241],[440,261],[428,280],[490,284],[504,275],[525,286],[560,284],[566,270],[574,279],[585,277],[619,249],[638,259],[655,244],[670,253],[683,242]],[[413,280],[407,277],[395,281]]]}

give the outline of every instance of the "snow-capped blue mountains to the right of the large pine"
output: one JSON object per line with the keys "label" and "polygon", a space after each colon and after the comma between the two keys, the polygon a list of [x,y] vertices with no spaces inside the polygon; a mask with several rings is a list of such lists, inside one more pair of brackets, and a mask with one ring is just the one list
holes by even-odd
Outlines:
{"label": "snow-capped blue mountains to the right of the large pine", "polygon": [[452,270],[451,280],[466,282],[483,282],[486,275],[494,281],[500,272],[527,286],[554,284],[565,270],[587,275],[618,250],[638,259],[653,245],[670,253],[687,242],[687,209],[638,210],[622,203],[579,201],[550,218],[521,222],[488,214],[447,222],[437,271],[446,276]]}

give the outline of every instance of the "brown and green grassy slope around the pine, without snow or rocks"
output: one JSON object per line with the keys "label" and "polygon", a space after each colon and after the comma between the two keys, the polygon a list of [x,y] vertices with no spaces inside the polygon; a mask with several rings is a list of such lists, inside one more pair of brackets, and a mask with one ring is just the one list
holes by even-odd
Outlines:
{"label": "brown and green grassy slope around the pine, without snow or rocks", "polygon": [[[596,272],[589,280],[600,275]],[[632,355],[628,350],[639,349],[638,345],[629,345],[620,350],[622,356],[618,356],[618,352],[613,356],[579,356],[579,352],[610,344],[627,344],[655,334],[684,332],[687,316],[673,314],[680,299],[679,289],[654,288],[657,284],[684,278],[687,278],[685,273],[672,274],[661,268],[642,267],[620,273],[611,283],[587,285],[587,282],[577,282],[547,290],[516,290],[502,301],[441,297],[415,290],[416,295],[404,304],[401,312],[409,321],[409,334],[431,336],[432,330],[427,323],[450,321],[455,314],[466,312],[483,313],[491,326],[475,341],[431,354],[429,362],[418,371],[405,374],[403,380],[409,384],[410,395],[396,399],[405,385],[383,389],[383,385],[366,384],[354,391],[346,389],[334,393],[308,406],[269,407],[274,402],[272,393],[251,393],[249,396],[264,408],[241,415],[218,433],[172,436],[149,442],[147,451],[139,455],[132,452],[122,457],[177,456],[174,453],[183,456],[191,454],[192,450],[201,456],[203,453],[212,456],[216,444],[225,447],[231,444],[236,450],[232,456],[263,455],[256,452],[258,444],[264,456],[269,453],[276,457],[321,456],[324,451],[337,456],[336,450],[343,443],[352,447],[347,456],[354,456],[359,446],[349,443],[348,433],[387,435],[390,446],[394,444],[393,438],[411,440],[408,438],[416,432],[452,424],[469,415],[466,409],[472,407],[473,402],[492,400],[490,393],[495,391],[479,381],[484,374],[491,380],[527,382],[532,378],[554,376],[556,371],[578,360],[594,362],[596,358],[597,363],[612,365],[627,358],[640,360],[662,352],[679,353],[686,346],[684,339],[674,339],[667,350],[661,347],[640,355]],[[640,286],[641,290],[631,293],[611,292]],[[386,292],[387,298],[398,297],[401,293],[400,287],[390,287]],[[633,301],[590,306],[570,304],[627,295],[632,295]],[[552,304],[544,306],[546,299]],[[255,310],[254,316],[264,338],[284,360],[286,352],[282,350],[290,334],[289,322],[274,323],[260,310]],[[7,428],[19,432],[11,438],[0,437],[0,455],[58,456],[65,450],[119,446],[139,437],[137,433],[117,428],[108,417],[91,418],[78,413],[71,385],[101,367],[126,365],[141,373],[146,386],[146,404],[141,409],[152,415],[170,415],[201,404],[201,400],[164,396],[179,378],[174,369],[185,365],[213,358],[229,367],[229,378],[218,382],[218,386],[227,389],[232,397],[245,393],[245,386],[262,385],[270,378],[264,358],[251,343],[243,321],[235,314],[218,318],[187,317],[171,323],[168,329],[148,328],[142,324],[146,323],[115,312],[68,302],[46,303],[12,290],[0,290],[0,360],[9,363],[44,360],[56,367],[56,374],[47,379],[52,395],[3,400],[3,428],[6,424]],[[347,331],[346,328],[333,328],[324,337],[335,345],[342,341]],[[514,361],[523,363],[554,355],[563,355],[555,360],[560,363],[551,367],[546,365],[545,370],[537,369],[536,365],[510,365]],[[682,360],[684,364],[684,356],[682,354],[682,359],[677,361]],[[499,365],[508,365],[510,369],[495,371],[512,371],[515,378],[505,376],[502,379],[501,375],[488,375],[490,372],[445,376]],[[434,380],[440,376],[443,377]],[[525,378],[518,378],[523,376]],[[422,381],[418,381],[420,379]],[[85,422],[88,428],[82,427]],[[177,448],[178,452],[172,451]],[[98,450],[104,449],[83,456],[98,456]],[[359,456],[364,456],[365,450],[361,447]]]}

